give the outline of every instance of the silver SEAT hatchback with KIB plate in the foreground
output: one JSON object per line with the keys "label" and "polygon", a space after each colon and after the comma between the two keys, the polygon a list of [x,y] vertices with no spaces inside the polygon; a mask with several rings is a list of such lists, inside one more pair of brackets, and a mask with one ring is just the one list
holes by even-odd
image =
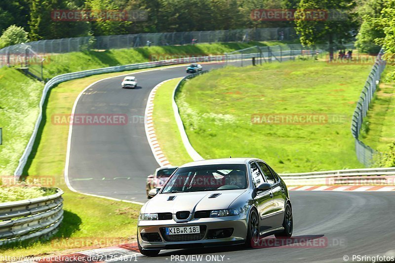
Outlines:
{"label": "silver SEAT hatchback with KIB plate in the foreground", "polygon": [[263,160],[227,158],[180,166],[141,208],[140,253],[245,244],[290,237],[291,202],[284,181]]}

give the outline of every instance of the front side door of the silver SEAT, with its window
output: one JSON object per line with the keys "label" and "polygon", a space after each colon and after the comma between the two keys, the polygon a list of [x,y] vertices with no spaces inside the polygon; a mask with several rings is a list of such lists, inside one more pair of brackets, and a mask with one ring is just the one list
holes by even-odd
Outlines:
{"label": "front side door of the silver SEAT, with its window", "polygon": [[[257,188],[260,184],[265,182],[263,174],[258,167],[258,164],[255,161],[250,162],[250,172],[252,176],[252,182],[254,188]],[[273,222],[268,218],[270,211],[272,210],[273,202],[272,202],[272,190],[258,191],[255,196],[255,203],[258,208],[258,213],[260,215],[260,232],[269,230],[273,228]]]}

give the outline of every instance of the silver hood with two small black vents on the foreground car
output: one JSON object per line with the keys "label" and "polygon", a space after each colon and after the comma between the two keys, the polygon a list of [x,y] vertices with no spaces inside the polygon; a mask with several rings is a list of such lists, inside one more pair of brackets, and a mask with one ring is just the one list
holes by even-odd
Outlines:
{"label": "silver hood with two small black vents on the foreground car", "polygon": [[[226,209],[246,189],[204,191],[189,193],[162,193],[150,199],[141,209],[141,213],[172,213],[178,211],[190,211],[194,213],[200,210]],[[219,194],[215,198],[209,198],[213,194]],[[175,198],[169,201],[170,196]]]}

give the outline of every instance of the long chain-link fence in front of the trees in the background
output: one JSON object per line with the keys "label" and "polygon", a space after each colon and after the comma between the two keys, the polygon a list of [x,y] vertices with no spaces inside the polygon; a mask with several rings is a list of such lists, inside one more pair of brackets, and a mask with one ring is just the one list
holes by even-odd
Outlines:
{"label": "long chain-link fence in front of the trees in the background", "polygon": [[258,28],[49,39],[0,49],[0,67],[6,65],[23,67],[27,66],[29,61],[40,60],[41,57],[48,54],[77,52],[87,49],[107,50],[153,45],[290,40],[295,38],[297,37],[293,28]]}

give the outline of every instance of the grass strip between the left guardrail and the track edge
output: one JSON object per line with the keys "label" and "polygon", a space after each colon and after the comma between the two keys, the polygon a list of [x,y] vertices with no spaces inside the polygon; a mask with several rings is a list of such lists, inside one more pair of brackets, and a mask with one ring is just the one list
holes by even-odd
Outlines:
{"label": "grass strip between the left guardrail and the track edge", "polygon": [[[60,83],[51,89],[44,104],[39,140],[35,143],[24,174],[50,176],[53,178],[51,180],[53,186],[65,191],[63,195],[64,219],[54,238],[92,240],[110,237],[116,238],[115,243],[129,242],[135,238],[140,205],[86,196],[67,188],[63,174],[69,126],[52,125],[50,117],[55,113],[71,113],[79,92],[90,83],[105,77],[127,73],[95,75]],[[111,220],[108,220],[109,218]],[[79,247],[83,247],[81,242],[70,242],[68,246],[58,248],[54,247],[51,241],[40,240],[34,243],[24,242],[8,246],[1,249],[1,253],[8,256],[40,255]]]}

